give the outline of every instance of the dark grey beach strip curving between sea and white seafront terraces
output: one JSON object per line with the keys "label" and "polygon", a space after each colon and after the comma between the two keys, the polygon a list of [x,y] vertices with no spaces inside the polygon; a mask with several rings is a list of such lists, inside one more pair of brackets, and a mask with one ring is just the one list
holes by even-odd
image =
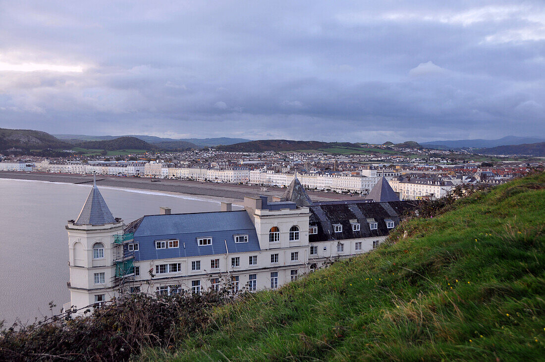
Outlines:
{"label": "dark grey beach strip curving between sea and white seafront terraces", "polygon": [[[82,183],[92,181],[93,176],[74,175],[74,174],[53,174],[41,172],[15,172],[2,171],[0,179],[16,180],[34,180],[46,182],[65,182]],[[222,198],[227,202],[240,203],[244,196],[248,195],[267,195],[270,197],[281,197],[285,189],[279,187],[267,187],[267,191],[262,191],[260,186],[252,185],[232,185],[228,183],[198,182],[186,180],[168,180],[161,179],[160,182],[151,182],[148,177],[120,177],[120,176],[97,176],[96,183],[101,186],[143,189],[148,191],[158,191],[166,193],[180,193],[186,195],[201,195],[204,197]],[[314,201],[331,200],[352,200],[355,197],[337,193],[326,192],[308,192],[308,195]]]}

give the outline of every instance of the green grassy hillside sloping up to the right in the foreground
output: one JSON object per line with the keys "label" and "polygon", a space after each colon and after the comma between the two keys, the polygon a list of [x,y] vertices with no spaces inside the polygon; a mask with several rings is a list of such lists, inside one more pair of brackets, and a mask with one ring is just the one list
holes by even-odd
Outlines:
{"label": "green grassy hillside sloping up to the right in the foreground", "polygon": [[[379,249],[215,310],[174,360],[538,360],[545,174],[399,226]],[[403,238],[404,231],[408,237]]]}

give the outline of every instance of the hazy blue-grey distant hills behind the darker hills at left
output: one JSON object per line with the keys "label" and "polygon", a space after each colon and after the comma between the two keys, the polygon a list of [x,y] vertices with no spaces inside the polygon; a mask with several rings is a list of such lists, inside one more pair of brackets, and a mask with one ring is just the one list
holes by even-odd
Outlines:
{"label": "hazy blue-grey distant hills behind the darker hills at left", "polygon": [[145,136],[141,134],[127,134],[125,136],[87,136],[85,134],[53,134],[53,136],[62,140],[70,140],[74,142],[75,140],[82,141],[103,141],[116,139],[119,137],[135,137],[141,139],[147,143],[151,144],[160,144],[166,148],[204,148],[204,147],[214,147],[217,145],[231,145],[235,143],[248,142],[250,139],[246,138],[228,138],[228,137],[217,137],[217,138],[161,138],[155,136]]}

